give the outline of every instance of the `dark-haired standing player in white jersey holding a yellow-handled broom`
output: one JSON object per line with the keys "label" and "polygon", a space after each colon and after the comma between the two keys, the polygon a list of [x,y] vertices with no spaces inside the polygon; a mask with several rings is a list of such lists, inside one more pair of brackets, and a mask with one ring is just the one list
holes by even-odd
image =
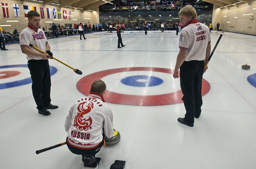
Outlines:
{"label": "dark-haired standing player in white jersey holding a yellow-handled broom", "polygon": [[[27,55],[27,66],[32,79],[32,93],[37,104],[38,113],[50,115],[47,109],[57,109],[58,106],[50,104],[50,67],[48,59],[53,56],[50,45],[43,30],[39,29],[40,15],[37,11],[27,13],[29,24],[20,32],[20,48],[23,54]],[[47,54],[30,47],[29,44],[45,51]]]}

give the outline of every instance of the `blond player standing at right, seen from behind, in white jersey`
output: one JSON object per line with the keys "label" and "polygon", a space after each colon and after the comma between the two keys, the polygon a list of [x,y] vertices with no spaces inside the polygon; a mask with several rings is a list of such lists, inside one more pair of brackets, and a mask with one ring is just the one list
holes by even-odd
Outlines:
{"label": "blond player standing at right, seen from behind, in white jersey", "polygon": [[178,53],[173,77],[178,78],[180,68],[180,86],[182,100],[186,109],[185,118],[178,118],[178,122],[187,126],[194,126],[194,117],[201,114],[202,78],[207,70],[204,68],[211,51],[209,28],[197,21],[197,13],[191,5],[186,5],[179,12],[180,22],[184,28],[179,39]]}

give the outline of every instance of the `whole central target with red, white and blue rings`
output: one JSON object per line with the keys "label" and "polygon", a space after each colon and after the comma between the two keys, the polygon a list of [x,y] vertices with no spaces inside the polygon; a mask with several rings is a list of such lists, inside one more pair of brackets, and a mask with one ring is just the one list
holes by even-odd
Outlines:
{"label": "whole central target with red, white and blue rings", "polygon": [[[95,72],[84,76],[77,89],[84,95],[90,92],[91,84],[102,79],[107,86],[106,102],[122,105],[157,106],[182,103],[180,79],[172,77],[174,70],[156,67],[126,67]],[[203,79],[202,95],[210,90]]]}

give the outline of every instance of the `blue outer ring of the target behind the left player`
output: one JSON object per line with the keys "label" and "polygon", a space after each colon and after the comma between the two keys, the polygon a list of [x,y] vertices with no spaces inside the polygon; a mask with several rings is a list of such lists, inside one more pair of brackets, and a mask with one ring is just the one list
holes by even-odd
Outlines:
{"label": "blue outer ring of the target behind the left player", "polygon": [[[14,65],[0,66],[0,69],[1,68],[10,68],[10,67],[27,67],[27,64],[14,64]],[[56,72],[57,72],[57,68],[50,66],[50,75],[52,76]],[[22,86],[22,85],[29,84],[29,83],[32,83],[31,77],[22,79],[22,80],[17,80],[14,82],[2,83],[2,84],[0,84],[0,90],[11,88],[11,87]]]}

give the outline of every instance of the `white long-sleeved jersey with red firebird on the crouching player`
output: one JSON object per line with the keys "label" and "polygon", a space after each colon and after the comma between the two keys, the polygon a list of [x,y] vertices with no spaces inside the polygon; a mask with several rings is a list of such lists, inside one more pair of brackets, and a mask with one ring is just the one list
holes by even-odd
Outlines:
{"label": "white long-sleeved jersey with red firebird on the crouching player", "polygon": [[93,149],[106,137],[114,135],[112,110],[101,94],[91,92],[74,103],[65,121],[68,143],[79,149]]}

